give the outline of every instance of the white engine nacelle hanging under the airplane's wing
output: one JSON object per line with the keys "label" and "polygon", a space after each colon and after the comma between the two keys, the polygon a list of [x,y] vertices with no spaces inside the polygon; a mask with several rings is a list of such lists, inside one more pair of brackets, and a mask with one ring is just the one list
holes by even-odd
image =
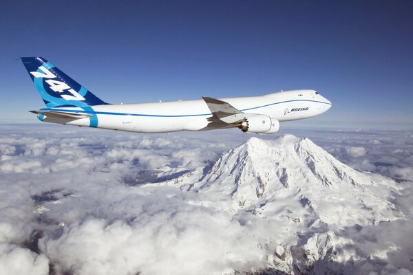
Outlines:
{"label": "white engine nacelle hanging under the airplane's wing", "polygon": [[244,133],[277,133],[279,121],[268,115],[249,114],[244,120],[235,124]]}

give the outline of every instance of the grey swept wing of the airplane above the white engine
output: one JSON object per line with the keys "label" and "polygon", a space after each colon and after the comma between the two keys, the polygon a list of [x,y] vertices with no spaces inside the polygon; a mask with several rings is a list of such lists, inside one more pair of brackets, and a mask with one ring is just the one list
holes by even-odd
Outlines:
{"label": "grey swept wing of the airplane above the white engine", "polygon": [[242,111],[236,109],[228,102],[216,98],[209,98],[207,96],[202,96],[202,98],[207,103],[213,118],[218,118],[226,124],[233,124],[244,119]]}

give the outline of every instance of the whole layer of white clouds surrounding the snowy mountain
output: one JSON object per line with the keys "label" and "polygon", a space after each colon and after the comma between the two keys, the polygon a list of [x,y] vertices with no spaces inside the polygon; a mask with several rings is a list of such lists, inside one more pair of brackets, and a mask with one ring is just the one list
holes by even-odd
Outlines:
{"label": "whole layer of white clouds surrounding the snowy mountain", "polygon": [[[145,180],[125,182],[126,177],[138,179],[141,173],[191,177],[184,174],[190,170],[195,178],[196,169],[202,172],[251,135],[0,127],[4,129],[0,134],[0,268],[5,268],[4,274],[47,274],[49,264],[56,274],[231,274],[274,266],[291,273],[291,263],[281,259],[295,259],[291,243],[321,251],[315,261],[328,263],[323,257],[327,252],[317,247],[326,235],[308,233],[306,223],[293,221],[294,216],[275,214],[263,219],[248,211],[233,212],[227,202],[208,194],[160,183],[142,185]],[[392,133],[301,133],[314,135],[311,138],[317,144],[354,168],[406,180],[401,194],[392,198],[400,220],[346,229],[346,237],[331,233],[334,224],[321,224],[330,230],[330,245],[345,249],[340,243],[356,243],[355,253],[363,251],[366,258],[388,251],[387,243],[394,245],[395,257],[384,252],[383,258],[367,263],[357,254],[361,258],[353,259],[354,270],[406,272],[394,266],[411,267],[408,251],[413,244],[403,242],[413,229],[413,189],[407,183],[413,179],[413,145],[408,136],[401,134],[394,140]],[[156,176],[147,179],[153,182]],[[271,207],[268,211],[283,212]],[[39,241],[32,240],[33,232],[39,232]],[[29,250],[30,242],[35,245]],[[362,242],[366,245],[360,246]],[[25,265],[13,271],[10,263],[18,261]]]}

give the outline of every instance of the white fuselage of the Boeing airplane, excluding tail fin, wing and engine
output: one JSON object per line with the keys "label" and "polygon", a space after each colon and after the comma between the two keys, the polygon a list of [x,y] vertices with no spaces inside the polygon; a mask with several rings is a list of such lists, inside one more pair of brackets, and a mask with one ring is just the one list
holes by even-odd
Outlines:
{"label": "white fuselage of the Boeing airplane, excluding tail fin, wing and engine", "polygon": [[[268,115],[279,122],[310,118],[324,113],[331,107],[330,101],[313,90],[281,91],[264,96],[220,98],[220,100],[228,102],[243,113]],[[211,118],[212,114],[204,100],[95,105],[86,111],[79,107],[56,107],[43,110],[76,110],[80,113],[93,114],[93,118],[66,121],[44,118],[45,122],[95,126],[120,131],[163,133],[216,129],[209,126],[208,118]]]}

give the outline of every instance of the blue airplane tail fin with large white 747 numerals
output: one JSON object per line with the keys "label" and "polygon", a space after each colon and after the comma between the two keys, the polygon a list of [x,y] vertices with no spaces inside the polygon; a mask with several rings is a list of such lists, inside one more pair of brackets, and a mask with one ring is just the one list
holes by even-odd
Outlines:
{"label": "blue airplane tail fin with large white 747 numerals", "polygon": [[87,107],[108,104],[41,57],[21,57],[47,107]]}

